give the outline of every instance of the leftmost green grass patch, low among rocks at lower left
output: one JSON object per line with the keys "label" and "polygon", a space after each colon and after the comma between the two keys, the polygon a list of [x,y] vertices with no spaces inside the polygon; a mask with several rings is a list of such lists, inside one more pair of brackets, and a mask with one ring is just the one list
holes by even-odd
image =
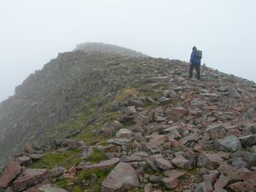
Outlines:
{"label": "leftmost green grass patch, low among rocks at lower left", "polygon": [[48,152],[44,154],[41,160],[36,161],[30,168],[52,169],[56,166],[70,168],[82,161],[79,158],[81,150],[68,150],[66,152]]}

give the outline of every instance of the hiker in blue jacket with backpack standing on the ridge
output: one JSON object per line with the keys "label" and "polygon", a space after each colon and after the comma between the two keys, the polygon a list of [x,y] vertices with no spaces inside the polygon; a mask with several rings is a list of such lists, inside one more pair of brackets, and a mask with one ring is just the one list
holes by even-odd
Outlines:
{"label": "hiker in blue jacket with backpack standing on the ridge", "polygon": [[192,53],[190,55],[190,67],[189,67],[189,78],[192,78],[193,76],[193,69],[195,67],[196,69],[196,77],[198,80],[201,79],[201,74],[200,74],[200,67],[201,67],[201,56],[202,52],[201,50],[196,49],[194,46],[192,49]]}

